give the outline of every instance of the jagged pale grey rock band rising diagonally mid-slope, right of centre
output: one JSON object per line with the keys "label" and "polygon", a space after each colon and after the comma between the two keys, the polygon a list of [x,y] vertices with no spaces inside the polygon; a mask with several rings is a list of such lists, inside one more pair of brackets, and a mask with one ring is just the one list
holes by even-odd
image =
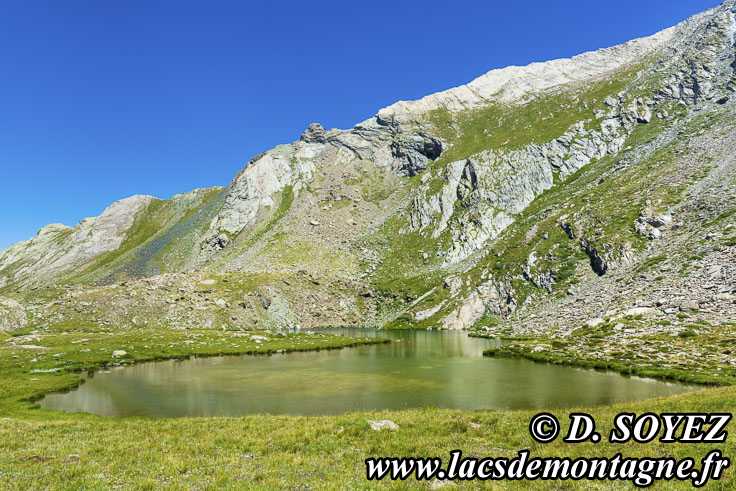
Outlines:
{"label": "jagged pale grey rock band rising diagonally mid-slope, right of centre", "polygon": [[[639,106],[635,106],[639,111]],[[489,150],[447,165],[440,192],[431,181],[417,191],[409,210],[407,231],[432,229],[436,238],[447,228],[452,245],[445,262],[457,263],[493,240],[541,193],[593,159],[619,152],[633,130],[620,101],[598,130],[576,124],[559,138],[520,150]],[[636,120],[636,118],[634,118]],[[456,208],[460,202],[461,207]],[[451,218],[455,218],[451,222]]]}

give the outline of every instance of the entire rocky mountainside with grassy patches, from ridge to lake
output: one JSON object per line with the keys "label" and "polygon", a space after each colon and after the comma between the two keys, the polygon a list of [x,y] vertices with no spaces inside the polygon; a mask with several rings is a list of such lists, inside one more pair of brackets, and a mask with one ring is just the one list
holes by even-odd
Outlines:
{"label": "entire rocky mountainside with grassy patches, from ridge to lake", "polygon": [[629,365],[645,340],[717,336],[736,319],[735,16],[315,123],[225,188],[48,225],[0,252],[2,328],[473,328]]}

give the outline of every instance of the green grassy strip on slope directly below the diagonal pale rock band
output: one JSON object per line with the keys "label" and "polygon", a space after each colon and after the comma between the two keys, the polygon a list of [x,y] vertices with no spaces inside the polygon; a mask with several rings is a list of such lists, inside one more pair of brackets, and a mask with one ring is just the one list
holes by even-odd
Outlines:
{"label": "green grassy strip on slope directly below the diagonal pale rock band", "polygon": [[[555,278],[554,292],[564,295],[577,282],[579,266],[582,271],[590,269],[582,239],[601,252],[612,251],[614,257],[642,250],[648,241],[635,232],[634,221],[647,202],[654,211],[662,212],[683,199],[683,187],[662,183],[667,183],[673,172],[672,163],[681,155],[685,135],[712,123],[707,117],[695,119],[687,124],[687,132],[681,131],[682,136],[653,149],[638,165],[631,165],[633,152],[668,131],[672,123],[656,120],[639,125],[627,141],[628,150],[578,170],[519,214],[467,273],[471,284],[478,284],[486,271],[496,278],[511,277],[517,301],[522,303],[539,290],[520,278],[522,266],[534,252],[538,258],[534,271],[550,270]],[[574,239],[563,225],[570,226]]]}

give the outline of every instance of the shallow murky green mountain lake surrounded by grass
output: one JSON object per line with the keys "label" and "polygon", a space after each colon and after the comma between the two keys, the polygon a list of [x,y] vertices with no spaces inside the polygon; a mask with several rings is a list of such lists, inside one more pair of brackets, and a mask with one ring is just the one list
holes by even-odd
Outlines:
{"label": "shallow murky green mountain lake surrounded by grass", "polygon": [[565,408],[696,390],[517,359],[484,358],[498,341],[463,332],[340,329],[395,341],[342,350],[162,361],[113,368],[77,390],[50,394],[45,409],[104,416],[322,415],[434,406]]}

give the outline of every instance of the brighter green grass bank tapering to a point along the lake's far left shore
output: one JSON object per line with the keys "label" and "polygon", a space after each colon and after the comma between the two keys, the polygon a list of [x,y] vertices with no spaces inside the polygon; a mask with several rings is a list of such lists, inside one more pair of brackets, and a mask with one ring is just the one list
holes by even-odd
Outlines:
{"label": "brighter green grass bank tapering to a point along the lake's far left shore", "polygon": [[[34,410],[34,403],[44,395],[73,390],[79,386],[81,374],[110,366],[189,357],[332,350],[385,342],[389,340],[311,331],[274,334],[268,331],[136,329],[123,332],[56,330],[15,336],[0,333],[0,417]],[[126,354],[112,358],[117,350]]]}

